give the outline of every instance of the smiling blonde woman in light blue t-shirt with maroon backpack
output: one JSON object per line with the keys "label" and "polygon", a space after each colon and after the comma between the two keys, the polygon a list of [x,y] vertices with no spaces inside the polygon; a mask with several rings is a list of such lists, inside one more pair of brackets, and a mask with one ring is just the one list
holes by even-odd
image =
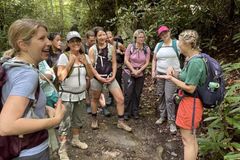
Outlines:
{"label": "smiling blonde woman in light blue t-shirt with maroon backpack", "polygon": [[[3,64],[7,81],[1,88],[0,159],[47,160],[46,129],[58,125],[65,112],[61,100],[55,104],[56,110],[46,107],[39,86],[37,66],[47,59],[50,47],[47,27],[36,20],[20,19],[10,26],[8,39],[15,57]],[[50,118],[45,118],[46,113]],[[2,143],[6,139],[8,143]]]}

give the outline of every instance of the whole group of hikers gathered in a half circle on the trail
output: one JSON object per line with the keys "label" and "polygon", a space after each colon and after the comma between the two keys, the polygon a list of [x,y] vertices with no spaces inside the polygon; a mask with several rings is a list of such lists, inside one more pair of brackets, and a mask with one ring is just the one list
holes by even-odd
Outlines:
{"label": "whole group of hikers gathered in a half circle on the trail", "polygon": [[[151,73],[160,98],[156,124],[167,121],[173,134],[177,125],[184,144],[184,159],[195,160],[198,143],[192,133],[192,104],[196,104],[195,128],[202,119],[203,105],[191,94],[206,79],[205,64],[196,58],[201,52],[199,36],[194,30],[184,30],[176,40],[164,25],[157,29],[157,35],[161,41],[153,51]],[[49,139],[57,131],[58,155],[61,160],[69,159],[66,148],[69,137],[72,146],[88,148],[80,141],[81,108],[92,115],[91,128],[98,129],[98,110],[109,116],[106,100],[111,97],[116,105],[118,128],[131,132],[133,129],[126,121],[140,118],[144,71],[151,55],[144,30],[137,29],[133,42],[126,48],[120,36],[114,37],[102,27],[88,31],[85,42],[77,31],[68,32],[64,50],[61,39],[62,35],[48,34],[47,27],[33,19],[20,19],[10,26],[8,40],[12,49],[2,58],[7,59],[2,64],[7,78],[1,88],[0,143],[6,137],[17,137],[27,145],[20,144],[13,154],[11,145],[0,144],[1,152],[4,150],[0,158],[49,159]],[[187,63],[183,68],[182,55]],[[186,96],[176,114],[172,97],[177,88]]]}

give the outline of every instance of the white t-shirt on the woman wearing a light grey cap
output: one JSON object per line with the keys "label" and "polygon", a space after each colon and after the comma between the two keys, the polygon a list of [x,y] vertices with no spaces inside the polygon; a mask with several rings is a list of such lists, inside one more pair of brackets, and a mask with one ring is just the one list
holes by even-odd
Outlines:
{"label": "white t-shirt on the woman wearing a light grey cap", "polygon": [[[86,59],[88,63],[90,63],[90,59],[88,55],[86,55]],[[61,54],[58,60],[58,66],[66,66],[69,62],[66,54]],[[77,102],[86,98],[86,69],[83,64],[74,64],[73,70],[68,78],[66,78],[60,86],[61,98],[63,101],[71,101]]]}

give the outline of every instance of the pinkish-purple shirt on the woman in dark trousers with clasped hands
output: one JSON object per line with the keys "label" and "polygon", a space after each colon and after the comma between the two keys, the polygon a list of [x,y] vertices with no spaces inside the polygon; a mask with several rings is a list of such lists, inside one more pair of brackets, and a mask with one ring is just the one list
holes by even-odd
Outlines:
{"label": "pinkish-purple shirt on the woman in dark trousers with clasped hands", "polygon": [[[128,45],[127,50],[125,51],[125,56],[127,56],[128,61],[131,63],[133,68],[141,68],[146,63],[146,60],[150,58],[150,48],[148,46],[145,46],[147,47],[147,54],[145,55],[144,49],[133,49],[132,47],[132,44]],[[128,69],[126,72],[130,73]]]}

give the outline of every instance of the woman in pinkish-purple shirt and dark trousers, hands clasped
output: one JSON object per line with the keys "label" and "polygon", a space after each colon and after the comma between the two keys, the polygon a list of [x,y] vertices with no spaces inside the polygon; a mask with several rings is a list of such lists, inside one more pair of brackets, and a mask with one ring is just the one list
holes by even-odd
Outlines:
{"label": "woman in pinkish-purple shirt and dark trousers, hands clasped", "polygon": [[138,108],[144,83],[144,70],[149,64],[150,48],[144,43],[145,32],[138,29],[133,34],[134,43],[129,44],[125,52],[123,71],[124,84],[124,118],[139,118]]}

